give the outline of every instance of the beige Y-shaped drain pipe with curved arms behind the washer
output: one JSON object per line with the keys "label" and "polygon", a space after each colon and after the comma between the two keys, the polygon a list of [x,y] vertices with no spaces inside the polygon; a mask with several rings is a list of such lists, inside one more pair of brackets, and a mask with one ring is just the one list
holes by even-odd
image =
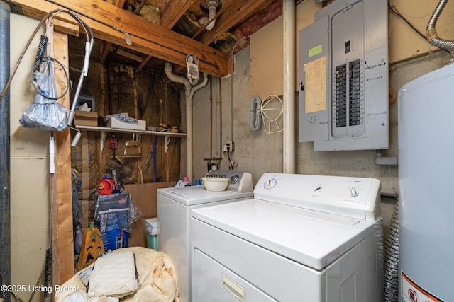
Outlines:
{"label": "beige Y-shaped drain pipe with curved arms behind the washer", "polygon": [[184,85],[184,95],[186,96],[186,173],[189,180],[192,180],[192,98],[194,93],[203,88],[208,83],[208,75],[204,73],[204,81],[199,85],[192,86],[184,76],[174,74],[169,62],[165,62],[164,71],[166,76],[176,83]]}

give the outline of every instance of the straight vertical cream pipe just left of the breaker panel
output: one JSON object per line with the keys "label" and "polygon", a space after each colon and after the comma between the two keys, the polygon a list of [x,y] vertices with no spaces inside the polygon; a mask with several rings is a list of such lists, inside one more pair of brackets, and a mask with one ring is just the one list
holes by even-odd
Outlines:
{"label": "straight vertical cream pipe just left of the breaker panel", "polygon": [[295,173],[295,1],[282,1],[282,19],[284,22],[284,124],[283,156],[284,173]]}

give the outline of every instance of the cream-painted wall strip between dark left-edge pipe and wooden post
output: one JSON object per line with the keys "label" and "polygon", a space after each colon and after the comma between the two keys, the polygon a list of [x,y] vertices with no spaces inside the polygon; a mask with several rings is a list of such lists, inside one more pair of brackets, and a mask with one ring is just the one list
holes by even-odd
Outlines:
{"label": "cream-painted wall strip between dark left-edge pipe and wooden post", "polygon": [[[11,70],[39,21],[11,14]],[[23,110],[35,98],[30,70],[35,59],[39,35],[33,39],[14,77],[11,93],[11,284],[24,285],[26,291],[16,292],[28,301],[40,277],[49,242],[49,133],[19,125]],[[13,298],[11,298],[13,301]],[[36,292],[33,301],[43,301]]]}

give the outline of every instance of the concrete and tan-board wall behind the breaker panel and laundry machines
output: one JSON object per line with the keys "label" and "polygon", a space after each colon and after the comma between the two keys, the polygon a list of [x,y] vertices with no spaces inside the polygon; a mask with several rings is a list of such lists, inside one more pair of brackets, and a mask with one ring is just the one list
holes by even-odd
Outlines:
{"label": "concrete and tan-board wall behind the breaker panel and laundry machines", "polygon": [[[437,4],[438,0],[418,1],[418,5],[411,0],[391,1],[391,5],[422,33]],[[314,22],[314,13],[319,9],[321,4],[311,0],[297,6],[297,47],[299,30]],[[437,23],[438,35],[446,40],[454,40],[453,12],[454,2],[451,1],[445,6]],[[265,172],[282,172],[282,133],[266,134],[263,126],[253,132],[249,125],[250,103],[254,95],[262,99],[267,95],[282,95],[282,57],[282,17],[250,37],[250,46],[235,55],[233,140],[236,149],[231,157],[238,164],[237,170],[253,174],[254,184]],[[389,85],[395,92],[412,79],[440,68],[448,57],[448,54],[438,52],[436,47],[389,11],[389,65],[394,70],[389,75]],[[221,90],[219,79],[213,79],[211,88],[208,85],[194,95],[194,179],[206,174],[204,157],[210,154],[222,157],[220,168],[228,169],[227,159],[221,150],[223,144],[231,140],[230,115],[230,75],[221,79]],[[211,119],[212,136],[209,127]],[[298,127],[298,122],[295,127]],[[399,194],[397,165],[375,165],[374,150],[314,152],[313,143],[298,143],[296,153],[297,173],[377,178],[382,182],[382,193],[392,197]],[[389,149],[384,150],[383,155],[397,154],[396,100],[389,104]],[[182,171],[184,169],[182,165]],[[382,202],[386,224],[392,216],[396,199],[383,198]]]}

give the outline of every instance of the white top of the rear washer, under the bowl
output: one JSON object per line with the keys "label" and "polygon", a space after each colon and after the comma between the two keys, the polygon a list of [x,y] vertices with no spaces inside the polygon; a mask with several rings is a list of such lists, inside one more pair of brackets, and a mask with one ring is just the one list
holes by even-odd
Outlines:
{"label": "white top of the rear washer, under the bowl", "polygon": [[240,193],[231,190],[214,192],[206,190],[204,186],[167,187],[164,189],[157,189],[158,197],[160,194],[186,206],[222,200],[245,199],[253,196],[253,192]]}

